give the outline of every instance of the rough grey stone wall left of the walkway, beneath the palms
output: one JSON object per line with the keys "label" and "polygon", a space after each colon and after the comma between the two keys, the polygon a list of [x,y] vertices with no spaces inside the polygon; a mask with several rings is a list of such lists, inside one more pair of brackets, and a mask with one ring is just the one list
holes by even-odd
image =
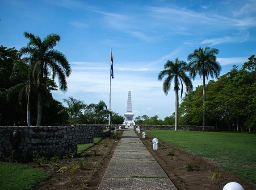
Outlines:
{"label": "rough grey stone wall left of the walkway, beneath the palms", "polygon": [[33,151],[43,151],[47,156],[77,151],[77,144],[92,143],[93,137],[107,136],[103,126],[0,126],[0,158],[10,156],[11,151],[26,149],[29,156]]}

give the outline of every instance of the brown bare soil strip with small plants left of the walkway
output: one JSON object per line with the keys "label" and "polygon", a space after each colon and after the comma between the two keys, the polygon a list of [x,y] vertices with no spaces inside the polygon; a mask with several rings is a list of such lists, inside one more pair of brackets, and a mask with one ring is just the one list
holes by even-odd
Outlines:
{"label": "brown bare soil strip with small plants left of the walkway", "polygon": [[[73,158],[58,161],[55,163],[57,165],[56,169],[54,169],[50,161],[46,165],[43,165],[43,167],[34,162],[29,163],[28,165],[45,169],[51,173],[51,178],[46,182],[40,182],[34,190],[97,190],[122,133],[123,131],[119,130],[116,135],[110,135],[104,138],[101,142],[93,145],[83,153]],[[59,168],[71,166],[81,159],[84,159],[84,166],[75,170],[72,175],[72,181],[70,180],[70,169],[63,173],[58,171]]]}

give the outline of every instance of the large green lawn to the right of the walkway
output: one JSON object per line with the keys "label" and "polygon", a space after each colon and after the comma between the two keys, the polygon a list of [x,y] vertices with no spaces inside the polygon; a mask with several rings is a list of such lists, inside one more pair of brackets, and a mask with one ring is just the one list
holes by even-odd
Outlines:
{"label": "large green lawn to the right of the walkway", "polygon": [[256,184],[256,135],[237,132],[146,131],[170,145],[213,159],[223,169]]}

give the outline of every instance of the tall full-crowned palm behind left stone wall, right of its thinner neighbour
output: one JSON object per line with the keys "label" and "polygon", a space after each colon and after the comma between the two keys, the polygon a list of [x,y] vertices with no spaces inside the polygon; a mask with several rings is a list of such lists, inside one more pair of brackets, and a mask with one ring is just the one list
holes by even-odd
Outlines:
{"label": "tall full-crowned palm behind left stone wall, right of its thinner neighbour", "polygon": [[66,77],[71,74],[71,66],[65,55],[53,49],[60,41],[58,34],[49,34],[43,40],[39,36],[25,32],[24,36],[29,39],[26,47],[20,50],[21,55],[26,55],[29,60],[30,72],[38,88],[38,118],[37,126],[41,124],[43,96],[48,90],[46,81],[48,76],[59,79],[59,89],[67,91]]}

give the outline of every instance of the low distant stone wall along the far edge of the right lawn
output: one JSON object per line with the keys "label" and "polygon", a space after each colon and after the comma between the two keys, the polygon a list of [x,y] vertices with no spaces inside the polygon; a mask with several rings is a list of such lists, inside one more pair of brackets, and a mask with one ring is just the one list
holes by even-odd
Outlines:
{"label": "low distant stone wall along the far edge of the right lawn", "polygon": [[[175,130],[174,125],[136,125],[134,130],[139,126],[140,130],[152,130],[152,129],[170,129]],[[190,131],[202,131],[202,126],[178,126],[178,130],[190,130]],[[206,126],[205,131],[212,131],[214,127]]]}

